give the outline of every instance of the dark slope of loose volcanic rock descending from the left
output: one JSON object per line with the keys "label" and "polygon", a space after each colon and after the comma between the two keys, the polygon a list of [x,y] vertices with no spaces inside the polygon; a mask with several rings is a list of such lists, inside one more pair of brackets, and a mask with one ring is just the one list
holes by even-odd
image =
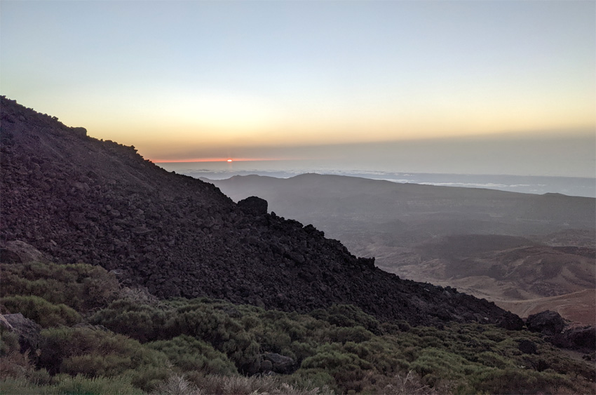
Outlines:
{"label": "dark slope of loose volcanic rock descending from the left", "polygon": [[0,137],[1,241],[31,243],[59,262],[121,269],[161,297],[297,311],[351,303],[414,324],[519,322],[451,288],[402,281],[311,226],[245,213],[210,184],[6,98]]}

